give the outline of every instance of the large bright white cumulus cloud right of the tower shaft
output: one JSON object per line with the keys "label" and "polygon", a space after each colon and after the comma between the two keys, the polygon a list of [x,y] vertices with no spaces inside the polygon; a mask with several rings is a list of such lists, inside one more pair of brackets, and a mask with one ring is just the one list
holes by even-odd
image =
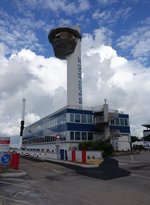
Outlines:
{"label": "large bright white cumulus cloud right of the tower shaft", "polygon": [[87,51],[84,50],[82,60],[84,103],[99,105],[107,98],[111,108],[129,113],[131,134],[142,136],[141,124],[149,120],[146,111],[150,100],[149,69],[118,56],[112,47],[99,43],[91,35],[84,36],[84,44]]}

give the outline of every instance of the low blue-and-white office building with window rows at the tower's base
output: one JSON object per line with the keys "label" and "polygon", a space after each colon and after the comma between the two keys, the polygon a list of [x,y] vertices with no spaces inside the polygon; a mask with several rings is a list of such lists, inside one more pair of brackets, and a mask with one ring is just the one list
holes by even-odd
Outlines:
{"label": "low blue-and-white office building with window rows at the tower's base", "polygon": [[111,110],[106,120],[105,106],[96,109],[66,106],[58,110],[25,128],[23,147],[30,151],[55,152],[58,143],[60,149],[73,150],[83,141],[115,139],[116,142],[121,136],[126,136],[128,141],[129,116]]}

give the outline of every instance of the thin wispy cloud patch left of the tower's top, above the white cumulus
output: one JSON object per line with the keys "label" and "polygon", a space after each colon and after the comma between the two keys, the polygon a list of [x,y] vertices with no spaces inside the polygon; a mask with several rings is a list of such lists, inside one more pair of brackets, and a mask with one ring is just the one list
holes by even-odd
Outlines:
{"label": "thin wispy cloud patch left of the tower's top, above the white cumulus", "polygon": [[41,45],[36,31],[40,28],[40,32],[45,32],[47,25],[44,21],[35,20],[33,14],[17,19],[3,11],[0,11],[0,15],[0,41],[5,44],[7,55],[17,53],[21,48],[43,51],[44,46]]}

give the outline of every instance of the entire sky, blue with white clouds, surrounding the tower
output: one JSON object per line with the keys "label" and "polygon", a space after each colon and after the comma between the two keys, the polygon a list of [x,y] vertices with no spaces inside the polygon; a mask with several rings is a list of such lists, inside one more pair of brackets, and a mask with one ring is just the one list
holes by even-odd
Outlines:
{"label": "entire sky, blue with white clouds, surrounding the tower", "polygon": [[18,135],[22,98],[26,125],[66,105],[66,61],[54,57],[48,33],[76,25],[84,106],[107,98],[142,136],[150,119],[149,11],[149,0],[1,0],[0,136]]}

